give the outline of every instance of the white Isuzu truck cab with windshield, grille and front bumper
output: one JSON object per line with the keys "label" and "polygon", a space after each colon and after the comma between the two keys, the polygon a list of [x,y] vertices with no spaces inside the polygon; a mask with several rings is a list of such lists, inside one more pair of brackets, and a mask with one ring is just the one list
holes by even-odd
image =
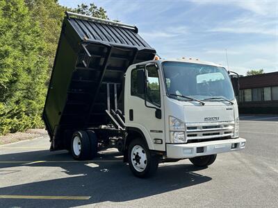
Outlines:
{"label": "white Isuzu truck cab with windshield, grille and front bumper", "polygon": [[152,162],[145,161],[147,149],[153,157],[207,166],[218,153],[245,148],[229,73],[218,64],[186,59],[133,64],[125,73],[124,94],[126,132],[133,137],[138,132],[144,141],[129,148],[131,171],[138,176],[148,174],[142,173],[148,172],[144,163]]}

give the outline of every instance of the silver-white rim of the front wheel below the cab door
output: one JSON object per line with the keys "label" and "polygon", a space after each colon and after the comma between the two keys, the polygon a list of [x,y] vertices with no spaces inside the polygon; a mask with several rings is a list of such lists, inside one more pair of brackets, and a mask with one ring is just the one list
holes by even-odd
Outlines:
{"label": "silver-white rim of the front wheel below the cab door", "polygon": [[131,150],[131,164],[136,171],[145,171],[147,167],[147,154],[142,146],[133,146]]}

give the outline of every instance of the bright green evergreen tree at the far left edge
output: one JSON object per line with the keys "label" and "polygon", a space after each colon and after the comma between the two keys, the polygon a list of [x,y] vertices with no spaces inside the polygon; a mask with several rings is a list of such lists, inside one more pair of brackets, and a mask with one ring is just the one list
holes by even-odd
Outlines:
{"label": "bright green evergreen tree at the far left edge", "polygon": [[45,44],[24,0],[0,1],[0,134],[42,125]]}

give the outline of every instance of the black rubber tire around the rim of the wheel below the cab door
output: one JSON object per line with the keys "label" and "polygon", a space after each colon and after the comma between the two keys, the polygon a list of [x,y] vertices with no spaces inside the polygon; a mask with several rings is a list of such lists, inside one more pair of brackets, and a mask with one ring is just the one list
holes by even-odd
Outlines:
{"label": "black rubber tire around the rim of the wheel below the cab door", "polygon": [[[133,149],[133,147],[135,146],[141,146],[142,149],[145,151],[145,155],[147,156],[147,162],[145,164],[147,164],[147,166],[145,167],[144,171],[137,171],[136,168],[134,168],[133,166],[133,157],[131,157],[131,151]],[[129,168],[131,169],[131,172],[136,176],[136,177],[149,177],[154,175],[154,173],[156,173],[156,169],[158,167],[158,160],[159,157],[158,155],[152,155],[151,152],[149,151],[149,148],[147,147],[147,144],[145,144],[145,142],[140,139],[133,139],[131,141],[131,143],[129,144],[129,153],[128,153],[128,157],[129,157]],[[140,163],[139,163],[140,164]]]}

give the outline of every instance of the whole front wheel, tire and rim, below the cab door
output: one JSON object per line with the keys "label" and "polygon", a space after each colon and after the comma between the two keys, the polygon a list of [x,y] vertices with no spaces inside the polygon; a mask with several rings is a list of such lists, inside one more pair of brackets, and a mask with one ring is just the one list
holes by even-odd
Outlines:
{"label": "whole front wheel, tire and rim, below the cab door", "polygon": [[137,177],[149,177],[156,172],[158,156],[151,155],[142,139],[134,139],[129,144],[129,167]]}

